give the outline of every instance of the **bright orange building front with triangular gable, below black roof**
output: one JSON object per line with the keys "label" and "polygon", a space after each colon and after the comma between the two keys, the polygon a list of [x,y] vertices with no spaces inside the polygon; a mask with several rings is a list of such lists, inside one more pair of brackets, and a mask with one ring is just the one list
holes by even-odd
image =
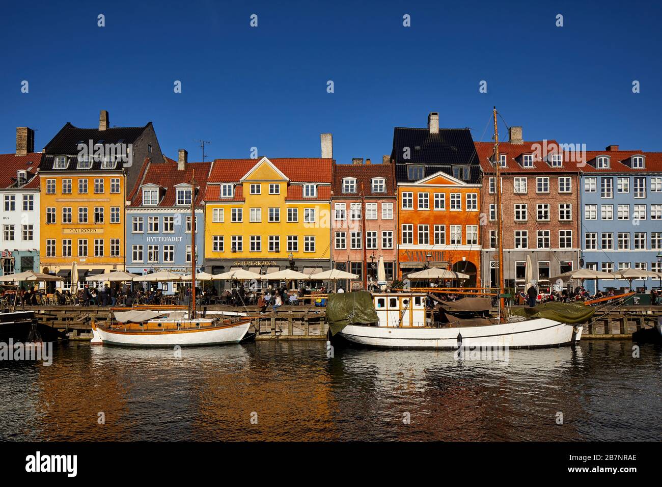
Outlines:
{"label": "bright orange building front with triangular gable, below black roof", "polygon": [[399,277],[426,265],[470,276],[480,285],[481,184],[436,172],[398,183]]}

